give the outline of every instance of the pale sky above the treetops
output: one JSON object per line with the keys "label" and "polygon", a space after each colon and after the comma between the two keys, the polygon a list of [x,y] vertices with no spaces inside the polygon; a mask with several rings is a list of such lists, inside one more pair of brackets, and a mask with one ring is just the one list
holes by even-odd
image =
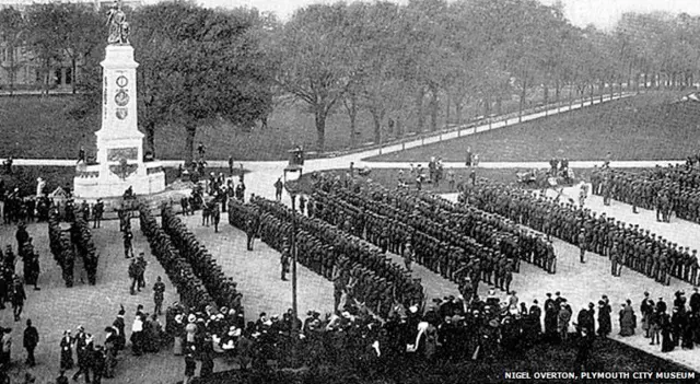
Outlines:
{"label": "pale sky above the treetops", "polygon": [[[205,7],[252,7],[262,12],[275,12],[280,19],[287,20],[295,9],[311,3],[332,3],[335,0],[196,0]],[[408,0],[394,0],[407,3]],[[498,0],[493,0],[498,1]],[[552,4],[558,0],[539,0]],[[700,0],[559,0],[564,4],[567,18],[574,24],[584,27],[588,24],[603,30],[610,30],[625,12],[667,11],[670,13],[686,12],[700,15]],[[149,2],[147,0],[147,2]],[[351,2],[349,0],[348,2]]]}

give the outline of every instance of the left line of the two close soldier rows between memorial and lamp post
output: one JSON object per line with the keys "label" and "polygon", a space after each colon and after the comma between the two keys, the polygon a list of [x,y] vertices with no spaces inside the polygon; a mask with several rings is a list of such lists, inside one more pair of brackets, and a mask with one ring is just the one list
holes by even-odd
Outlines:
{"label": "left line of the two close soldier rows between memorial and lamp post", "polygon": [[198,311],[212,305],[214,300],[207,291],[205,283],[195,274],[189,261],[173,246],[171,237],[158,224],[145,203],[139,206],[139,221],[141,232],[149,241],[151,254],[163,266],[165,274],[179,293],[179,301]]}

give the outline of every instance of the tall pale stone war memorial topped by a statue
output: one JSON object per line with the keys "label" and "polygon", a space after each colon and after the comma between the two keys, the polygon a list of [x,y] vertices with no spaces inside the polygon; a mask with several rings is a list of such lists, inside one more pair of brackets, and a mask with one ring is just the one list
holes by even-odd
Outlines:
{"label": "tall pale stone war memorial topped by a statue", "polygon": [[109,12],[109,37],[105,48],[102,84],[102,127],[97,136],[96,164],[79,164],[73,179],[77,198],[120,197],[128,188],[135,195],[165,189],[160,162],[143,161],[143,133],[138,129],[137,77],[139,63],[129,44],[129,24],[124,11]]}

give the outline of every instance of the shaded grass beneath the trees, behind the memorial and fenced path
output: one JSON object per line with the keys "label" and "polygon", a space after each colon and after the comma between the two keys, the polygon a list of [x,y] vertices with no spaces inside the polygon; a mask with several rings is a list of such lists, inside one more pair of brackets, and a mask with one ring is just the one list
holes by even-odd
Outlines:
{"label": "shaded grass beneath the trees, behind the memorial and fenced path", "polygon": [[[527,103],[533,107],[541,95],[534,95]],[[441,105],[438,126],[444,126],[447,114],[444,101]],[[72,95],[14,96],[0,97],[0,158],[24,159],[77,159],[80,146],[89,155],[95,153],[94,132],[101,128],[100,112],[88,115],[81,120],[69,116]],[[513,100],[503,102],[502,112],[517,110],[518,103]],[[481,115],[483,110],[474,105],[465,106],[463,121]],[[405,131],[415,130],[416,114],[405,110],[394,114],[400,116]],[[425,110],[425,127],[430,126]],[[388,119],[389,116],[386,117]],[[386,119],[383,123],[386,126]],[[451,120],[454,121],[454,107]],[[357,116],[357,146],[371,143],[374,139],[374,124],[371,116],[360,108]],[[386,135],[387,132],[384,132]],[[387,135],[393,138],[395,135]],[[225,160],[232,155],[235,160],[287,160],[287,151],[300,144],[315,150],[316,129],[313,114],[303,103],[281,103],[276,106],[268,119],[266,130],[256,128],[244,131],[223,123],[200,126],[195,138],[207,147],[209,159]],[[156,155],[159,159],[180,160],[185,152],[185,129],[178,125],[159,127],[155,132]],[[331,110],[326,121],[326,151],[350,149],[350,119],[346,108],[339,104]]]}

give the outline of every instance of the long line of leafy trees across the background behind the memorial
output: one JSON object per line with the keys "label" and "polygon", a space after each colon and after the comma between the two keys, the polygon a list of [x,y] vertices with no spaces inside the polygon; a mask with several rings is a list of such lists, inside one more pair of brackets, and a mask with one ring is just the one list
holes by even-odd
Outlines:
{"label": "long line of leafy trees across the background behind the memorial", "polygon": [[[578,27],[562,5],[536,0],[410,0],[313,4],[282,22],[255,9],[211,10],[176,1],[128,12],[139,67],[140,124],[153,151],[159,125],[187,132],[215,119],[267,120],[292,97],[314,115],[317,150],[326,120],[343,112],[351,142],[360,110],[374,141],[392,116],[409,110],[415,132],[436,130],[439,115],[479,104],[483,115],[533,92],[559,102],[563,90],[593,96],[608,89],[692,86],[700,70],[700,18],[627,13],[612,31]],[[104,11],[104,10],[102,10]],[[71,3],[0,10],[0,40],[51,65],[81,63],[81,112],[100,105],[104,13]],[[9,66],[12,68],[12,63]],[[73,71],[73,73],[75,73]],[[448,116],[450,119],[451,116]],[[394,123],[394,121],[393,121]]]}

